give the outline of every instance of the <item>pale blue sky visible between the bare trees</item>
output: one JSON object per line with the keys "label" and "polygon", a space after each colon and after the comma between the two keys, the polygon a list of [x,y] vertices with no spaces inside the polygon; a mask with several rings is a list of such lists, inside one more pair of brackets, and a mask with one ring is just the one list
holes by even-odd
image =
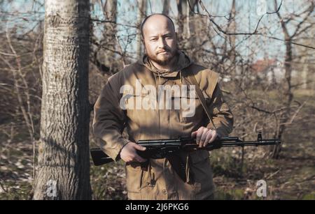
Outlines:
{"label": "pale blue sky visible between the bare trees", "polygon": [[[105,1],[105,0],[102,0]],[[279,3],[281,0],[277,0]],[[0,0],[1,2],[1,0]],[[1,21],[3,27],[3,23],[6,23],[7,26],[12,27],[16,26],[22,31],[28,31],[29,29],[34,28],[37,24],[38,20],[43,20],[44,18],[44,6],[43,0],[37,1],[27,1],[27,0],[13,0],[11,3],[8,3],[8,0],[2,0],[1,4]],[[203,0],[204,6],[209,10],[209,13],[214,16],[225,16],[230,12],[230,8],[232,6],[232,0]],[[283,6],[281,7],[281,13],[294,13],[298,12],[301,8],[301,3],[297,0],[284,0]],[[171,17],[176,17],[177,9],[176,9],[176,0],[171,0],[171,9],[169,10],[169,15]],[[265,12],[274,11],[274,0],[237,0],[236,1],[236,9],[237,9],[237,31],[239,32],[252,32],[255,29],[258,20]],[[15,12],[17,15],[8,15],[6,12]],[[161,0],[149,0],[147,14],[151,13],[161,13],[162,12],[162,1]],[[202,14],[205,14],[204,11],[200,11]],[[97,17],[99,20],[104,20],[102,15],[102,10],[99,6],[94,5],[91,11],[92,17]],[[224,17],[215,17],[214,20],[221,25],[225,25],[226,19]],[[135,25],[137,23],[137,0],[118,0],[118,23],[120,24],[130,24]],[[175,22],[176,23],[176,22]],[[27,24],[27,28],[25,28],[25,24]],[[20,26],[20,28],[19,28]],[[262,22],[260,27],[269,26],[269,31],[272,33],[272,36],[276,36],[278,38],[283,38],[283,34],[281,33],[281,27],[279,25],[279,20],[275,14],[265,15],[262,18]],[[207,26],[211,28],[211,26]],[[96,27],[97,29],[97,27]],[[102,26],[99,26],[99,31],[102,30]],[[213,29],[212,29],[213,30]],[[260,29],[260,31],[263,29]],[[120,38],[120,43],[124,47],[127,41],[127,34],[136,33],[136,29],[130,28],[129,26],[119,25],[118,36]],[[135,39],[134,36],[130,37],[133,39],[132,43],[127,47],[128,52],[135,52]],[[242,40],[243,36],[237,36],[237,43]],[[222,40],[223,38],[218,36],[218,40]],[[248,46],[252,43],[256,43],[260,41],[260,44],[264,47],[264,51],[260,51],[258,54],[258,58],[262,58],[266,52],[269,57],[281,57],[281,52],[283,52],[284,43],[276,40],[269,40],[266,38],[262,38],[261,36],[251,36],[246,42],[239,45],[239,52],[242,55],[246,56],[251,54]],[[252,47],[255,48],[255,47]],[[279,49],[281,50],[279,52]]]}

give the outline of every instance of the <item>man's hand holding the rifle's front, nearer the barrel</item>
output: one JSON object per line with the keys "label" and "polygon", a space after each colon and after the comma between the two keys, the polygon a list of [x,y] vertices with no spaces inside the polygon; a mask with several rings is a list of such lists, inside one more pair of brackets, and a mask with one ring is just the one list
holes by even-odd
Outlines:
{"label": "man's hand holding the rifle's front, nearer the barrel", "polygon": [[216,139],[217,136],[218,134],[216,133],[216,130],[211,130],[203,126],[191,133],[191,137],[196,137],[196,143],[199,144],[200,148],[214,142],[214,139]]}

